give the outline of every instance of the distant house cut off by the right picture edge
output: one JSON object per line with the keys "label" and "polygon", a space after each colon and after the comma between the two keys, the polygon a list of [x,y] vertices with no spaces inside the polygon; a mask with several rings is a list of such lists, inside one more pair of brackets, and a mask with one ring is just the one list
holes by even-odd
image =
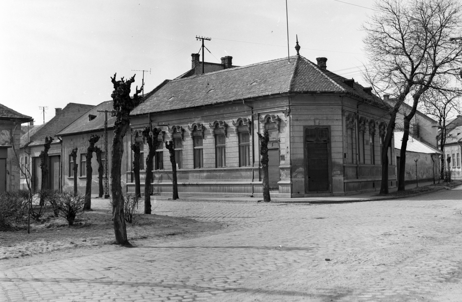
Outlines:
{"label": "distant house cut off by the right picture edge", "polygon": [[[449,131],[448,138],[446,139],[446,144],[444,145],[444,168],[445,171],[448,171],[449,168],[452,179],[462,179],[461,147],[462,126],[456,126]],[[448,165],[447,160],[449,157],[451,159],[451,162]]]}

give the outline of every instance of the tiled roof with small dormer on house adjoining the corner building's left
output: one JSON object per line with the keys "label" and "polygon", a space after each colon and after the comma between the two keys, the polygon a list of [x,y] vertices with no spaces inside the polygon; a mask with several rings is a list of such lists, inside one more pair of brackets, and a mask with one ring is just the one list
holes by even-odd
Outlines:
{"label": "tiled roof with small dormer on house adjoining the corner building's left", "polygon": [[[79,118],[77,118],[73,123],[68,125],[66,128],[62,129],[57,136],[67,136],[73,135],[76,133],[82,132],[89,132],[95,130],[104,129],[104,119],[105,114],[104,112],[98,112],[98,110],[114,110],[112,106],[112,100],[105,101],[101,104],[93,106],[90,110],[83,113]],[[88,115],[96,116],[94,119],[90,121]],[[108,113],[108,128],[112,128],[114,123],[116,122],[116,117],[112,117],[110,113]]]}

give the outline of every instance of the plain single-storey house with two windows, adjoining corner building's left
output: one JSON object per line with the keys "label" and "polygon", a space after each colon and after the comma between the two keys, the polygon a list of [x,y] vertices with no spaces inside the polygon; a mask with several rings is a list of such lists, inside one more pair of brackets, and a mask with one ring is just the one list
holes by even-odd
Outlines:
{"label": "plain single-storey house with two windows, adjoining corner building's left", "polygon": [[[57,136],[61,137],[62,141],[62,156],[63,156],[63,178],[62,178],[62,190],[63,191],[73,191],[74,187],[74,177],[77,177],[77,190],[79,193],[85,194],[86,187],[86,152],[87,148],[90,145],[88,140],[91,135],[99,135],[99,141],[95,144],[98,148],[103,150],[102,159],[103,166],[106,166],[105,160],[108,160],[108,173],[104,172],[104,178],[106,175],[110,175],[111,167],[111,148],[112,148],[112,139],[114,137],[114,122],[116,121],[116,116],[112,116],[111,111],[114,108],[111,101],[105,101],[101,104],[91,107],[86,111],[81,117],[76,119],[73,123],[68,125],[66,128],[62,129]],[[106,111],[106,112],[105,112]],[[106,157],[104,142],[106,137],[104,135],[104,123],[106,122],[107,117],[107,142],[108,142],[108,156]],[[125,146],[129,148],[130,134],[126,135]],[[77,175],[73,173],[73,158],[71,157],[71,150],[73,148],[78,148],[77,150],[77,164],[78,172]],[[125,149],[126,154],[128,154],[127,149]],[[126,183],[126,167],[127,167],[127,156],[123,157],[122,160],[122,189],[125,190]],[[93,154],[91,160],[92,168],[92,183],[91,191],[93,194],[98,193],[98,163],[96,160],[96,154]],[[105,191],[106,194],[111,194],[110,180],[108,179],[109,187],[108,191]],[[104,181],[103,181],[104,183]]]}

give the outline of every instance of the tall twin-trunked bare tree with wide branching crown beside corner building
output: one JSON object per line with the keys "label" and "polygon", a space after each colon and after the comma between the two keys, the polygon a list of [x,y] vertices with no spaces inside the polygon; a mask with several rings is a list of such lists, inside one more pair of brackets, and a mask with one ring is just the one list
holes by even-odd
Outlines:
{"label": "tall twin-trunked bare tree with wide branching crown beside corner building", "polygon": [[398,190],[404,190],[409,126],[420,96],[428,89],[447,91],[441,78],[459,73],[462,47],[450,37],[462,30],[462,7],[456,0],[380,0],[375,10],[364,25],[365,51],[370,61],[366,79],[376,92],[392,91],[395,97],[394,103],[388,104],[390,121],[382,152],[380,193],[388,193],[386,154],[396,113],[402,103],[412,102],[412,110],[404,117],[401,144]]}

